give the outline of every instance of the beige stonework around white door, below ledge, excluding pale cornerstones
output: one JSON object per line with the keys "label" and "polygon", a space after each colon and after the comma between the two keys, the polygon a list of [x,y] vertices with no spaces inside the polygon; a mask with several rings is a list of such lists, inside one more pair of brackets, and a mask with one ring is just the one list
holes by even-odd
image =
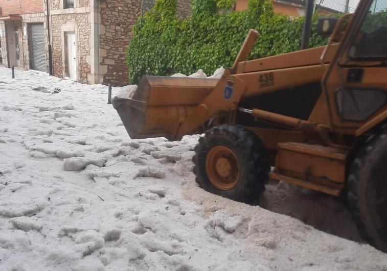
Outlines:
{"label": "beige stonework around white door, below ledge, excluding pale cornerstones", "polygon": [[[64,34],[71,27],[77,39],[77,81],[80,83],[89,83],[88,75],[90,73],[90,13],[73,13],[52,15],[52,46],[53,46],[53,70],[54,76],[66,77],[64,74],[63,60],[65,59]],[[65,27],[65,28],[63,28]],[[64,30],[63,30],[64,29]]]}

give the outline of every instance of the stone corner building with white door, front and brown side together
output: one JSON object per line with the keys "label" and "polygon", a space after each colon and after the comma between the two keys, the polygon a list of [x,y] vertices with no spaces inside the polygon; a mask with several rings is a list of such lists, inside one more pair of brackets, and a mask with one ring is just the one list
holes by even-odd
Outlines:
{"label": "stone corner building with white door, front and brown side together", "polygon": [[141,0],[71,0],[71,8],[66,1],[51,0],[50,6],[54,75],[87,84],[127,84],[125,52]]}

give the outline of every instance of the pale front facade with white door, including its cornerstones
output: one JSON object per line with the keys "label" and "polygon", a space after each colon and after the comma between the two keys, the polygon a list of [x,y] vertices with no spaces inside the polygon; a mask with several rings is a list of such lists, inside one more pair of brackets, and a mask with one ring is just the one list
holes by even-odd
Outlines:
{"label": "pale front facade with white door, including its cornerstones", "polygon": [[95,44],[98,8],[95,3],[98,4],[98,1],[50,1],[54,76],[71,78],[80,83],[102,83],[96,68],[99,63],[95,61],[96,53],[98,55]]}

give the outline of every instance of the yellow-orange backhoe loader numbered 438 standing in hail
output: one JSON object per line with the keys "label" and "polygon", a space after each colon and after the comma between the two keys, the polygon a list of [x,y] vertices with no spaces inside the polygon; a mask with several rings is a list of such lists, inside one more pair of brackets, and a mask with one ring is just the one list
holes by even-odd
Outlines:
{"label": "yellow-orange backhoe loader numbered 438 standing in hail", "polygon": [[360,0],[317,28],[326,46],[246,61],[251,30],[220,80],[143,76],[112,103],[131,138],[205,133],[193,157],[203,189],[251,203],[271,178],[345,195],[360,234],[386,252],[387,1]]}

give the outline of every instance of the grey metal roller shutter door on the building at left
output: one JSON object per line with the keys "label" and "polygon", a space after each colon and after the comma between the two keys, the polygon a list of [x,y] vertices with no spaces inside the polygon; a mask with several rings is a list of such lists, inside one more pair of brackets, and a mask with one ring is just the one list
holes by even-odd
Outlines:
{"label": "grey metal roller shutter door on the building at left", "polygon": [[31,24],[32,69],[47,71],[43,23]]}

